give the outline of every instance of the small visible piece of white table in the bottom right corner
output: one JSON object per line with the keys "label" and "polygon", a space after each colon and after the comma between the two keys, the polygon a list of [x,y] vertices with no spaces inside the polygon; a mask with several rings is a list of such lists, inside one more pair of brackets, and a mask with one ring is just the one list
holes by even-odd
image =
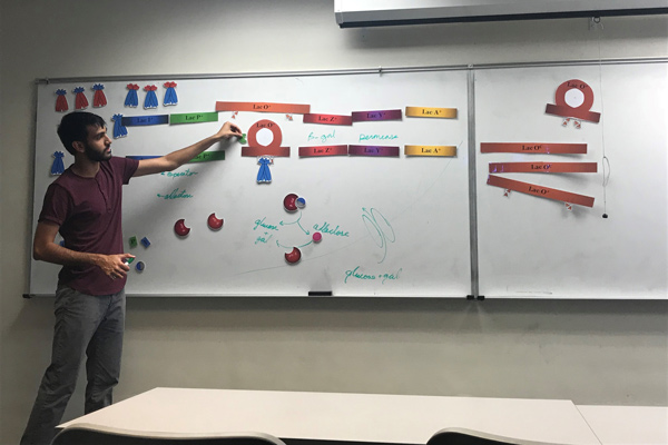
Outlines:
{"label": "small visible piece of white table in the bottom right corner", "polygon": [[668,444],[668,407],[578,405],[603,445]]}

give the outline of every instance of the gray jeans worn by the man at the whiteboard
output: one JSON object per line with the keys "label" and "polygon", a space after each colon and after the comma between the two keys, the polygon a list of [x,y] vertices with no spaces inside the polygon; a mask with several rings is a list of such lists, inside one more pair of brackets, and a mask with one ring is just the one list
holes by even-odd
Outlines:
{"label": "gray jeans worn by the man at the whiteboard", "polygon": [[69,287],[56,291],[51,365],[42,377],[21,445],[47,445],[56,435],[86,353],[86,414],[111,405],[120,375],[125,290],[92,296]]}

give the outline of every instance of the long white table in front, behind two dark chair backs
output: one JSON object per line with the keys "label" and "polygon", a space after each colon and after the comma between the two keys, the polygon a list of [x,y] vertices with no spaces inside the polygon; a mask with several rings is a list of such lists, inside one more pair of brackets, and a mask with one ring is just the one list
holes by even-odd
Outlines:
{"label": "long white table in front, behind two dark chair backs", "polygon": [[387,444],[425,444],[459,427],[540,444],[599,444],[570,400],[155,388],[60,426],[80,423]]}

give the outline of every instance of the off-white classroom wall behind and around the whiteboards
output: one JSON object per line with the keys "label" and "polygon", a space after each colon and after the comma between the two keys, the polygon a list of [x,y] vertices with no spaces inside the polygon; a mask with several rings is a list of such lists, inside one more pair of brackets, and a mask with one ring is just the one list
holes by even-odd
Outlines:
{"label": "off-white classroom wall behind and around the whiteboards", "polygon": [[[24,300],[36,78],[596,59],[587,19],[341,30],[317,0],[2,1],[0,444],[48,365]],[[602,58],[666,57],[666,16],[603,19]],[[117,399],[155,386],[668,404],[666,301],[128,301]],[[82,382],[67,418],[82,413]]]}

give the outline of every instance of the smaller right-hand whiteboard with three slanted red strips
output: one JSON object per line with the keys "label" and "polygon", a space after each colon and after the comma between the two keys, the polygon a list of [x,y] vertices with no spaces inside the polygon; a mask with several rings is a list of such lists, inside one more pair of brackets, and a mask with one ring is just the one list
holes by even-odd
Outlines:
{"label": "smaller right-hand whiteboard with three slanted red strips", "polygon": [[[595,95],[598,123],[546,113],[562,82]],[[475,73],[480,294],[666,298],[666,63],[491,69]],[[482,154],[482,142],[579,142],[586,155]],[[603,162],[603,157],[608,162]],[[499,176],[595,198],[572,206],[488,186],[489,164],[597,162],[597,174]],[[606,164],[606,171],[603,171]],[[606,186],[603,182],[606,181]],[[607,214],[608,218],[602,215]]]}

